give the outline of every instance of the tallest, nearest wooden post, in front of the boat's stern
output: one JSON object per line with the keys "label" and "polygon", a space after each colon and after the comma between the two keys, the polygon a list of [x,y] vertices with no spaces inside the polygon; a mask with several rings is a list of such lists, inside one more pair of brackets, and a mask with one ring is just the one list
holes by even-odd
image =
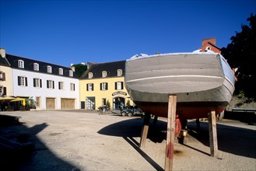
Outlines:
{"label": "tallest, nearest wooden post, in front of the boat's stern", "polygon": [[166,152],[165,152],[166,154],[165,154],[164,170],[173,169],[176,106],[177,106],[177,96],[169,95],[168,117],[167,117],[167,145],[166,145]]}

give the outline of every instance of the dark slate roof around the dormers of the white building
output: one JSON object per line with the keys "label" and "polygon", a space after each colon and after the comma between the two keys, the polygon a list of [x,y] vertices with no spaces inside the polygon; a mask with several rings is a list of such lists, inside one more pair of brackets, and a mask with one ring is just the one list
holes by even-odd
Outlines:
{"label": "dark slate roof around the dormers of the white building", "polygon": [[[54,65],[51,63],[47,63],[47,62],[43,62],[43,61],[37,61],[37,60],[33,60],[30,58],[23,58],[23,57],[19,57],[19,56],[15,56],[12,54],[6,54],[6,58],[9,61],[11,68],[18,68],[21,70],[25,70],[25,71],[30,71],[30,72],[39,72],[39,73],[44,73],[44,74],[49,74],[49,75],[58,75],[58,76],[64,76],[64,77],[68,77],[68,78],[75,78],[78,79],[79,76],[73,72],[73,76],[70,77],[69,76],[69,70],[71,70],[71,68],[68,67],[64,67],[61,65]],[[19,68],[18,66],[18,61],[19,60],[23,60],[24,61],[24,68]],[[37,63],[39,65],[39,71],[34,71],[33,69],[33,64]],[[47,66],[50,65],[51,66],[51,73],[47,72]],[[63,69],[63,75],[59,75],[58,74],[58,69],[62,68]]]}

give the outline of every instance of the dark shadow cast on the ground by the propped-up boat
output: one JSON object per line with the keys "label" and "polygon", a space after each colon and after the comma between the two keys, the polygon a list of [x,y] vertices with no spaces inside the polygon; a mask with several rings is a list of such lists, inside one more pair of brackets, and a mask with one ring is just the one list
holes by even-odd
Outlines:
{"label": "dark shadow cast on the ground by the propped-up boat", "polygon": [[[135,141],[135,137],[140,137],[142,131],[143,118],[135,118],[131,120],[124,120],[115,124],[110,124],[107,127],[103,127],[99,134],[106,134],[110,136],[123,137],[130,145],[135,149],[139,148],[139,142]],[[196,122],[191,120],[188,122],[188,134],[189,136],[202,142],[202,144],[209,146],[209,130],[208,122],[200,122],[201,130],[197,131]],[[255,126],[251,126],[255,127]],[[148,137],[155,143],[161,143],[167,138],[167,122],[157,120],[157,124],[153,126],[153,120],[150,120]],[[227,126],[217,123],[217,137],[218,148],[222,152],[227,152],[233,155],[240,155],[248,158],[256,159],[256,131],[241,127]],[[202,152],[188,143],[185,143],[186,147],[192,148],[195,151]],[[137,150],[142,156],[144,155],[140,150]],[[210,155],[202,152],[204,155]],[[159,169],[158,166],[148,159],[149,156],[145,156],[145,159]]]}

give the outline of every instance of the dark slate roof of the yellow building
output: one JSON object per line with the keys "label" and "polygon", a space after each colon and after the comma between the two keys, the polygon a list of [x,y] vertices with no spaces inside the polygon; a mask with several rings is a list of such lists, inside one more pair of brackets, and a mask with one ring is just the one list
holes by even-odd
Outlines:
{"label": "dark slate roof of the yellow building", "polygon": [[112,61],[112,62],[106,62],[106,63],[94,63],[90,66],[89,69],[84,72],[80,79],[88,79],[89,72],[93,72],[93,78],[92,79],[99,79],[102,78],[102,72],[107,72],[107,78],[110,77],[117,77],[117,70],[122,70],[122,75],[124,76],[124,68],[125,68],[125,61]]}

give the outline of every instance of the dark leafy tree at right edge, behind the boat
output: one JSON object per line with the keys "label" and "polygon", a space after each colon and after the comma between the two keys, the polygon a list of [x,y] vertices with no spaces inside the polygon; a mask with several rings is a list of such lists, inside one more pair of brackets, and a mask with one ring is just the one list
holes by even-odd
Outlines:
{"label": "dark leafy tree at right edge, behind the boat", "polygon": [[221,49],[231,68],[238,68],[235,94],[240,92],[256,99],[256,16],[247,19],[249,26],[241,25],[241,32],[230,38],[231,43]]}

